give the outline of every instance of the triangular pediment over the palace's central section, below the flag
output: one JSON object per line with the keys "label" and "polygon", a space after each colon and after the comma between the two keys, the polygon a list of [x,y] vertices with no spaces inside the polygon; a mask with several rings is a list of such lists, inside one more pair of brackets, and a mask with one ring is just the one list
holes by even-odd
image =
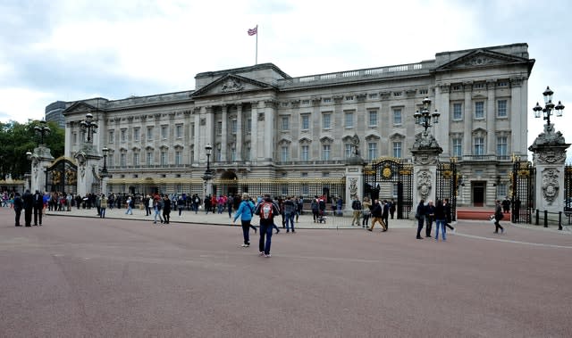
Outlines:
{"label": "triangular pediment over the palace's central section, below the flag", "polygon": [[195,91],[191,97],[201,97],[208,95],[227,95],[243,92],[252,92],[261,89],[273,89],[274,87],[252,78],[241,77],[240,75],[227,74],[223,78],[215,79],[205,87]]}

